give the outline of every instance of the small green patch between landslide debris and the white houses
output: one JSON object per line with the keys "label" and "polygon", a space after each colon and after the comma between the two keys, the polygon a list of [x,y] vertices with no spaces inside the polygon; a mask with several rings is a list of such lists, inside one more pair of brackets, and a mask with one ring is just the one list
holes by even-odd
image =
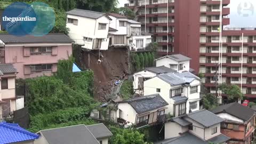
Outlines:
{"label": "small green patch between landslide debris and the white houses", "polygon": [[122,95],[123,100],[127,100],[132,98],[134,92],[133,92],[133,83],[130,80],[126,80],[123,82],[120,93]]}

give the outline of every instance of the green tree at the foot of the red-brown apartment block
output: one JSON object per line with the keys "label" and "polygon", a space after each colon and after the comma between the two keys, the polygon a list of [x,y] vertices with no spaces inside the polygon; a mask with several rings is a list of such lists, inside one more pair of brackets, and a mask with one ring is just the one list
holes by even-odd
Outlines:
{"label": "green tree at the foot of the red-brown apartment block", "polygon": [[242,100],[244,95],[237,85],[227,85],[223,83],[219,86],[219,89],[227,95],[228,101],[230,100]]}

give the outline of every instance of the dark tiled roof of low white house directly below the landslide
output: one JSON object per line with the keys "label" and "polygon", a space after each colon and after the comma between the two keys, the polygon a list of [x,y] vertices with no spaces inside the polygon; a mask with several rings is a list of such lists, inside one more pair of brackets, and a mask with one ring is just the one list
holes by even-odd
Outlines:
{"label": "dark tiled roof of low white house directly below the landslide", "polygon": [[168,105],[159,94],[146,95],[123,102],[128,102],[138,114]]}

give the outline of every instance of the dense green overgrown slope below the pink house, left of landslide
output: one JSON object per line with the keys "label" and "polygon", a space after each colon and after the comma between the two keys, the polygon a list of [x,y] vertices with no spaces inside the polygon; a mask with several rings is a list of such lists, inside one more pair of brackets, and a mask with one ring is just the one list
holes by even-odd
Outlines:
{"label": "dense green overgrown slope below the pink house, left of landslide", "polygon": [[83,123],[99,105],[92,97],[93,72],[72,73],[71,63],[73,58],[60,60],[55,76],[26,79],[29,130]]}

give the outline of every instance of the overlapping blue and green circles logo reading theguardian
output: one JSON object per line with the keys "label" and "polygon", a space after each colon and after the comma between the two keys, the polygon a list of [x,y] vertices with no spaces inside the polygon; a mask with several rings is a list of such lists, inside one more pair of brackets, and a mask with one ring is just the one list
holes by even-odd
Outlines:
{"label": "overlapping blue and green circles logo reading theguardian", "polygon": [[12,3],[3,12],[2,25],[11,35],[43,36],[55,25],[54,9],[41,2]]}

